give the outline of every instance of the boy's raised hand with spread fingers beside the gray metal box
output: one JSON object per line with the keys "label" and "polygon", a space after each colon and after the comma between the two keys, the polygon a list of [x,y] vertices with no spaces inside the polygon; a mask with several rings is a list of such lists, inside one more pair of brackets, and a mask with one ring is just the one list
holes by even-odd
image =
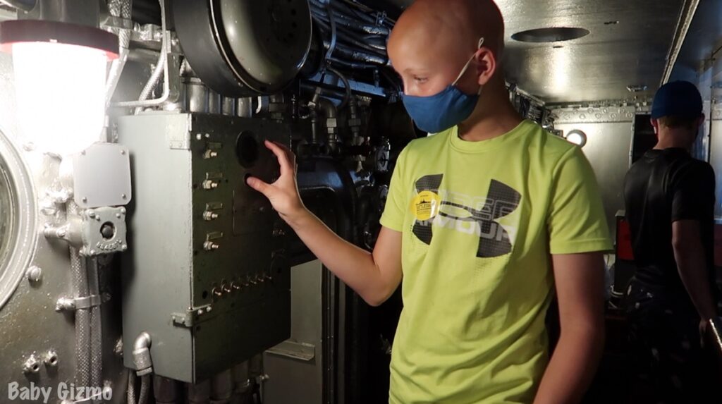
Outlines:
{"label": "boy's raised hand with spread fingers beside the gray metal box", "polygon": [[281,166],[281,176],[275,183],[268,184],[256,177],[248,177],[248,186],[264,194],[269,198],[271,205],[281,215],[282,219],[289,222],[302,216],[305,206],[298,193],[296,184],[296,156],[287,146],[265,141],[266,147],[273,151]]}

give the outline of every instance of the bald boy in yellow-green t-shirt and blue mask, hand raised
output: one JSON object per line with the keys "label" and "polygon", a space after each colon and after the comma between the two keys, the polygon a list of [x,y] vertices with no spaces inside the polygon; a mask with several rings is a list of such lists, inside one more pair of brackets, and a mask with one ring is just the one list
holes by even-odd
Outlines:
{"label": "bald boy in yellow-green t-shirt and blue mask, hand raised", "polygon": [[[523,120],[500,61],[490,0],[417,0],[388,41],[404,105],[435,133],[393,172],[373,253],[332,233],[301,202],[290,150],[264,193],[314,254],[366,302],[401,284],[390,403],[578,403],[604,341],[611,250],[591,166],[573,144]],[[549,360],[554,295],[561,335]]]}

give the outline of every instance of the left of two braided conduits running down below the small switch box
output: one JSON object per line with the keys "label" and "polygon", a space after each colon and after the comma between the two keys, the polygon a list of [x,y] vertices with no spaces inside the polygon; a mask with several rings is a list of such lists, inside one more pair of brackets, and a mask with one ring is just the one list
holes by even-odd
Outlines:
{"label": "left of two braided conduits running down below the small switch box", "polygon": [[[73,289],[75,297],[87,297],[88,278],[85,260],[80,257],[78,250],[70,247],[70,266],[73,273]],[[87,386],[90,382],[90,312],[88,309],[75,311],[75,385]]]}

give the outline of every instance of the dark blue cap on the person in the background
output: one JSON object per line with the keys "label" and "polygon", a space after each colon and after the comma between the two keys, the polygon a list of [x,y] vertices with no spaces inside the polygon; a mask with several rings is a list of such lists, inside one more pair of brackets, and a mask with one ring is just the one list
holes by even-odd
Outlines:
{"label": "dark blue cap on the person in the background", "polygon": [[683,118],[702,115],[702,95],[695,84],[669,82],[658,89],[652,104],[652,118],[672,115]]}

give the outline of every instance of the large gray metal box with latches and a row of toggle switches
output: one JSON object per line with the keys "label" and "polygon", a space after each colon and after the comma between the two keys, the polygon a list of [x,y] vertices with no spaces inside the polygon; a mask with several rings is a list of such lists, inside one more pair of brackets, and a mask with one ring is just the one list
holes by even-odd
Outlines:
{"label": "large gray metal box with latches and a row of toggle switches", "polygon": [[245,184],[278,176],[264,139],[280,123],[148,113],[118,120],[134,198],[123,255],[123,351],[147,331],[156,374],[199,382],[290,336],[290,272],[278,214]]}

